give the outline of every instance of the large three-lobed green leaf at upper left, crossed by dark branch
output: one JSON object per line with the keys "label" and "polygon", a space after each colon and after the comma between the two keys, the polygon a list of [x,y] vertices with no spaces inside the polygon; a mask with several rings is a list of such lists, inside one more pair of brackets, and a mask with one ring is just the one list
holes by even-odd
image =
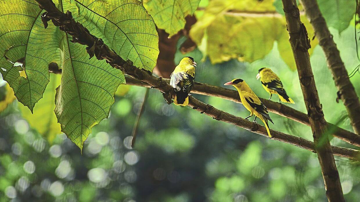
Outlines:
{"label": "large three-lobed green leaf at upper left, crossed by dark branch", "polygon": [[[153,19],[139,1],[54,3],[63,12],[71,11],[76,21],[121,57],[152,71],[158,55],[158,35]],[[82,149],[91,128],[108,116],[117,87],[125,83],[122,72],[105,60],[89,60],[85,47],[69,42],[71,37],[51,22],[44,28],[40,17],[44,10],[36,1],[0,1],[0,9],[0,39],[4,41],[0,51],[6,56],[0,60],[4,80],[32,111],[49,82],[48,66],[56,63],[62,69],[62,78],[55,114],[61,130]],[[13,63],[21,58],[25,58],[24,65],[15,67]]]}

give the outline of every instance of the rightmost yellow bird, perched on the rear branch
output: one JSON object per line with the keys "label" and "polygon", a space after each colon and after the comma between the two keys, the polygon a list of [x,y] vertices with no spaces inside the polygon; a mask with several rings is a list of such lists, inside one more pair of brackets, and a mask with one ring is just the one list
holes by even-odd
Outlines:
{"label": "rightmost yellow bird, perched on the rear branch", "polygon": [[294,101],[286,94],[283,83],[280,81],[278,75],[271,71],[270,68],[261,68],[258,72],[256,78],[261,78],[262,87],[264,87],[267,93],[270,93],[269,100],[273,94],[278,94],[279,102],[281,100],[281,102],[294,104]]}

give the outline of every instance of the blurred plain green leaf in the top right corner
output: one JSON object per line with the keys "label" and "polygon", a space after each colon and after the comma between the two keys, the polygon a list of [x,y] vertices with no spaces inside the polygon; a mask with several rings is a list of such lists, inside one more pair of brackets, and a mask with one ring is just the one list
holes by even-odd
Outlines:
{"label": "blurred plain green leaf in the top right corner", "polygon": [[321,14],[329,27],[344,31],[354,17],[356,1],[354,0],[318,0]]}

